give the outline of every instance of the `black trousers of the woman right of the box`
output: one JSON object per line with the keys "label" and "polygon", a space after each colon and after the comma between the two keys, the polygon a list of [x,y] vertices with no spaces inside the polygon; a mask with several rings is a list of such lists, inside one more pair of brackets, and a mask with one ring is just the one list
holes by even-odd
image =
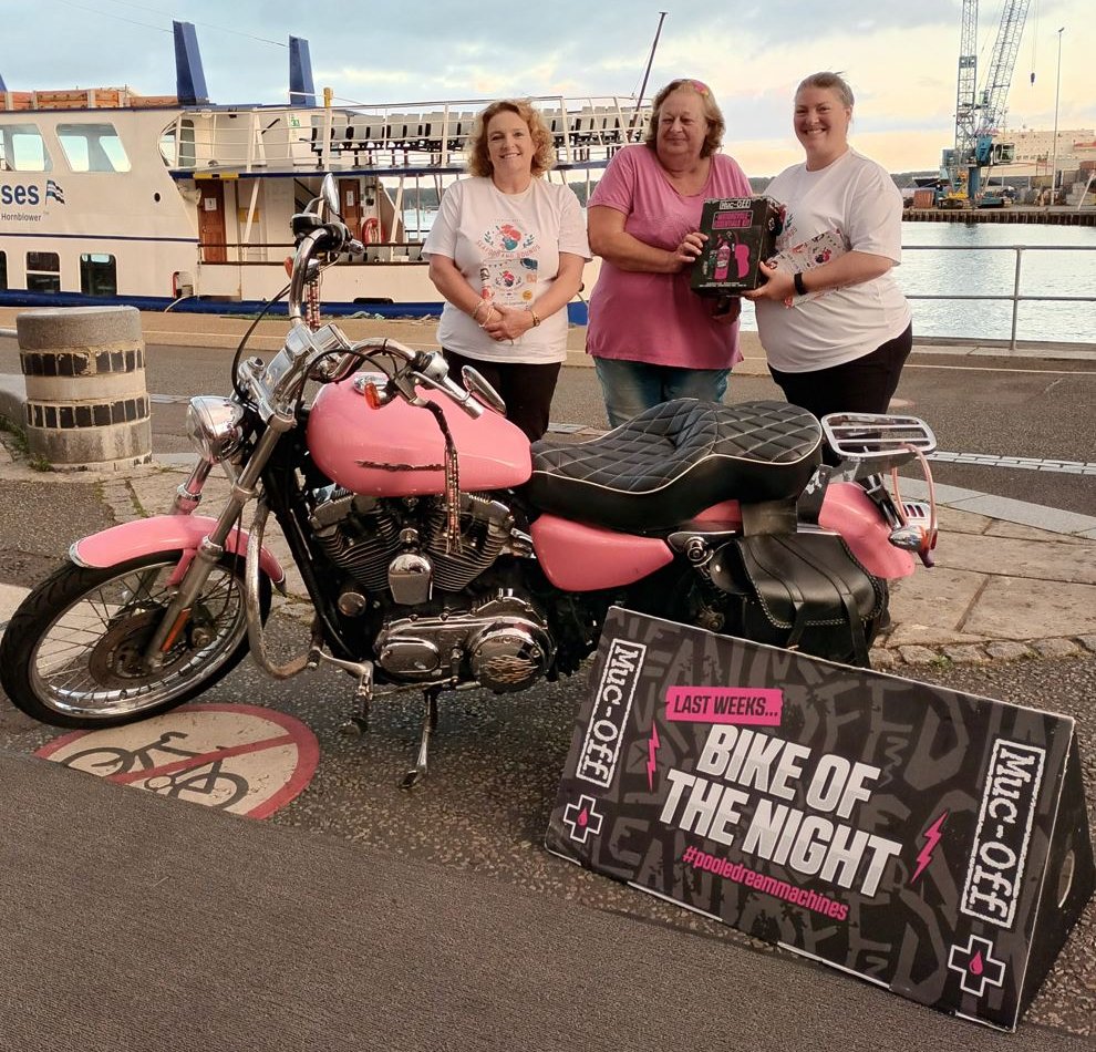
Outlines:
{"label": "black trousers of the woman right of the box", "polygon": [[768,371],[784,398],[819,419],[827,413],[886,413],[913,348],[913,326],[870,354],[813,372]]}

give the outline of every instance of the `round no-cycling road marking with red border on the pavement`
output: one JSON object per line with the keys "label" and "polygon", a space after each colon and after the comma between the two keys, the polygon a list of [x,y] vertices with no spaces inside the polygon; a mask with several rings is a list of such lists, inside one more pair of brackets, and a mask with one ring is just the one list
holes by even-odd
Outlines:
{"label": "round no-cycling road marking with red border on the pavement", "polygon": [[[215,721],[211,725],[203,726],[204,713],[227,714],[238,719],[231,723]],[[179,716],[183,718],[182,721]],[[221,726],[217,728],[216,722],[221,723]],[[189,732],[179,730],[184,725],[189,725],[192,730]],[[179,759],[179,751],[195,730],[205,730],[215,736],[226,736],[230,733],[236,741],[230,745],[221,745],[218,742],[193,751],[186,750]],[[168,739],[166,743],[165,738]],[[200,769],[209,764],[219,763],[224,765],[226,775],[238,776],[238,771],[234,772],[231,764],[236,759],[244,759],[254,777],[255,760],[266,753],[273,761],[271,765],[273,770],[260,770],[260,786],[252,791],[249,782],[248,792],[242,798],[223,808],[251,818],[266,818],[299,796],[312,781],[320,759],[319,743],[308,726],[283,712],[259,705],[213,703],[180,705],[163,715],[138,723],[106,728],[102,731],[74,731],[64,734],[38,750],[35,755],[64,763],[75,754],[76,751],[72,746],[77,743],[85,746],[79,752],[101,749],[104,753],[121,753],[127,757],[134,753],[144,753],[141,756],[143,766],[139,770],[90,773],[123,785],[137,785],[151,792],[156,790],[139,783],[147,783],[152,778],[170,778],[178,772]],[[190,792],[186,798],[210,806],[217,804],[210,792]]]}

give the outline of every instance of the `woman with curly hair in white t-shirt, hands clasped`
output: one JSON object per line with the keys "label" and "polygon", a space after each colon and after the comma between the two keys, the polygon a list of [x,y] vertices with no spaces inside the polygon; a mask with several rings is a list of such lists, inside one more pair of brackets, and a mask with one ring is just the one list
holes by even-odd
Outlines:
{"label": "woman with curly hair in white t-shirt, hands clasped", "polygon": [[555,157],[528,102],[493,102],[468,145],[472,177],[442,196],[423,246],[446,300],[437,340],[451,372],[479,370],[530,441],[548,429],[567,305],[590,258],[578,198],[541,178]]}

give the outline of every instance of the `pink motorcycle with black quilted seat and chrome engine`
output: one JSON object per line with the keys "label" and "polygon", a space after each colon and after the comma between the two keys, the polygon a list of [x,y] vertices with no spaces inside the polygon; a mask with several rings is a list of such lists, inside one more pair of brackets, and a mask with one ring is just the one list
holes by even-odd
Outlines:
{"label": "pink motorcycle with black quilted seat and chrome engine", "polygon": [[[918,458],[927,472],[920,420],[819,425],[783,402],[679,400],[530,447],[474,370],[457,384],[440,354],[319,324],[321,270],[363,251],[330,178],[293,231],[285,347],[263,361],[241,345],[232,396],[192,400],[198,460],[173,513],[77,540],[13,615],[0,681],[31,716],[144,719],[248,652],[279,679],[330,663],[356,679],[362,726],[374,695],[423,692],[413,784],[442,691],[577,671],[613,605],[866,664],[888,581],[914,554],[930,565],[931,504],[883,482]],[[217,465],[230,496],[196,514]],[[263,635],[285,587],[271,512],[314,607],[307,648],[281,664]]]}

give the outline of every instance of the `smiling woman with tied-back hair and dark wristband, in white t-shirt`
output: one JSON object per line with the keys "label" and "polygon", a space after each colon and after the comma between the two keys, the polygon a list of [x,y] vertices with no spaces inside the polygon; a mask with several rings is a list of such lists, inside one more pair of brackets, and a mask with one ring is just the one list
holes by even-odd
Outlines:
{"label": "smiling woman with tied-back hair and dark wristband, in white t-shirt", "polygon": [[902,196],[881,165],[850,148],[852,101],[837,73],[799,84],[794,125],[807,159],[765,190],[786,207],[778,251],[827,233],[846,250],[795,275],[769,269],[745,293],[784,396],[819,417],[886,413],[913,344],[909,303],[891,274],[902,258]]}

